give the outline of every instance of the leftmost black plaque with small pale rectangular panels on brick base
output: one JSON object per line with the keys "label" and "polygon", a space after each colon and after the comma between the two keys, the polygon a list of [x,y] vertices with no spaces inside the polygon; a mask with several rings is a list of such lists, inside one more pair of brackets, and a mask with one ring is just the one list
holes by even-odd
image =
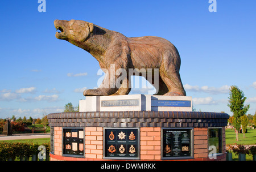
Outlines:
{"label": "leftmost black plaque with small pale rectangular panels on brick base", "polygon": [[84,157],[83,128],[63,128],[63,156]]}

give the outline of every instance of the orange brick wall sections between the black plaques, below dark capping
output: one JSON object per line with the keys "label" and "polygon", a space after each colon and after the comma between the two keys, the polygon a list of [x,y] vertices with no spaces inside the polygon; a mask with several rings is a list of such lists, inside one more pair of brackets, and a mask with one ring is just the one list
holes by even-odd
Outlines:
{"label": "orange brick wall sections between the black plaques, below dark capping", "polygon": [[[85,127],[85,158],[62,157],[62,128],[54,127],[55,154],[51,160],[102,160],[103,127]],[[140,128],[140,160],[161,160],[161,128]],[[194,158],[191,160],[209,160],[208,128],[194,128]],[[225,160],[225,127],[222,127],[222,152],[217,160]]]}

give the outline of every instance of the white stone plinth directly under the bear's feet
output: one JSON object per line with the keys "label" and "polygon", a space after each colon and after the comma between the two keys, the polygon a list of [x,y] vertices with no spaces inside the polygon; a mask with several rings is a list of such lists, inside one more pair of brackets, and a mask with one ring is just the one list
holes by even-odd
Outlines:
{"label": "white stone plinth directly under the bear's feet", "polygon": [[79,111],[192,111],[192,97],[147,94],[90,96],[79,101]]}

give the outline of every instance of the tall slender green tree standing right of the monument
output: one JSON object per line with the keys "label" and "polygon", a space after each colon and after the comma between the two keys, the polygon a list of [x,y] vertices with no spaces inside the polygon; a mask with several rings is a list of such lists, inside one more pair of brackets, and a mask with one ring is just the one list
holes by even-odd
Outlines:
{"label": "tall slender green tree standing right of the monument", "polygon": [[232,85],[229,89],[229,108],[233,112],[234,128],[236,128],[236,141],[238,141],[238,132],[241,127],[241,117],[249,110],[250,105],[243,105],[246,97],[245,94],[236,86]]}

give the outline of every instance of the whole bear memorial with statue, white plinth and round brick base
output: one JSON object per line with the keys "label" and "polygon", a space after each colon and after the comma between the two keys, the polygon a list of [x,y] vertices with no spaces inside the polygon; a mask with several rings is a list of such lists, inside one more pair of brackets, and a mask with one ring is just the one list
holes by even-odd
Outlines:
{"label": "whole bear memorial with statue, white plinth and round brick base", "polygon": [[[48,115],[51,160],[225,160],[229,116],[192,111],[171,42],[81,20],[54,24],[57,38],[92,54],[106,75],[84,91],[79,112]],[[156,94],[130,95],[131,75],[144,76]]]}

